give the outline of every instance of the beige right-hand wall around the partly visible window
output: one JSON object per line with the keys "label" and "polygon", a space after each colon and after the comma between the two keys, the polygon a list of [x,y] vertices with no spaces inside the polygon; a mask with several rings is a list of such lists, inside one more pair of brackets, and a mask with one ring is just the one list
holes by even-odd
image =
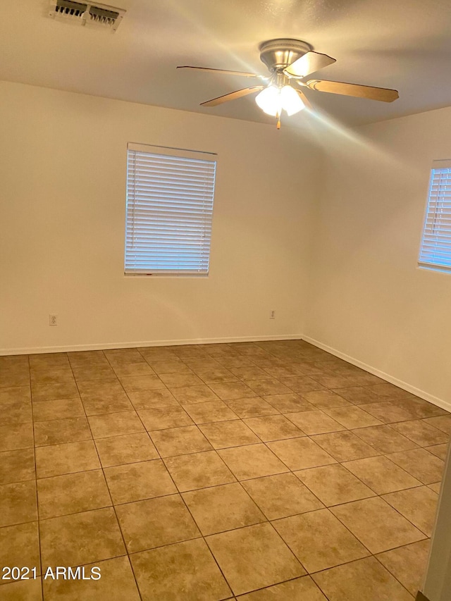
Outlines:
{"label": "beige right-hand wall around the partly visible window", "polygon": [[[342,132],[323,164],[304,334],[443,406],[451,403],[451,273],[417,266],[433,159],[451,109]],[[384,376],[385,374],[385,376]]]}

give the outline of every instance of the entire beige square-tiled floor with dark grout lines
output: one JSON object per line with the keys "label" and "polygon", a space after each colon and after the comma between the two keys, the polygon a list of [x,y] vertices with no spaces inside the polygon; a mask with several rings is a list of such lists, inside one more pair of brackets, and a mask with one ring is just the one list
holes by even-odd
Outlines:
{"label": "entire beige square-tiled floor with dark grout lines", "polygon": [[451,416],[302,340],[0,357],[0,407],[2,600],[416,594]]}

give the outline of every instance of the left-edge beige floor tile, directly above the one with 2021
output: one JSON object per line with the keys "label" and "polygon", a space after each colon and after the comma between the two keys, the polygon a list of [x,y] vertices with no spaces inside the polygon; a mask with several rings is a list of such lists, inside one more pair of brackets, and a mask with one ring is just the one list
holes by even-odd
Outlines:
{"label": "left-edge beige floor tile, directly above the one with 2021", "polygon": [[0,486],[0,527],[37,520],[36,482]]}

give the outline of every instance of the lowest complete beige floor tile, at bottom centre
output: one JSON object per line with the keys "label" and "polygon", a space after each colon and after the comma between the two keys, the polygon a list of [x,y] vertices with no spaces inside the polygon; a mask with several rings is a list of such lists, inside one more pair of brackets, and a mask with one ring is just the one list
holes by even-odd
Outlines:
{"label": "lowest complete beige floor tile, at bottom centre", "polygon": [[235,595],[305,574],[268,523],[214,534],[206,542]]}

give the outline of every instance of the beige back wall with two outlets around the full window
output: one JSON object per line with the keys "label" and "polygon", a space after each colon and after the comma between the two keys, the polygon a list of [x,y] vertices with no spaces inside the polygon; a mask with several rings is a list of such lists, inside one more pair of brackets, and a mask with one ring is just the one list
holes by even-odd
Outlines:
{"label": "beige back wall with two outlets around the full window", "polygon": [[[8,82],[0,115],[1,354],[302,333],[298,133]],[[124,277],[127,142],[218,153],[209,278]]]}

